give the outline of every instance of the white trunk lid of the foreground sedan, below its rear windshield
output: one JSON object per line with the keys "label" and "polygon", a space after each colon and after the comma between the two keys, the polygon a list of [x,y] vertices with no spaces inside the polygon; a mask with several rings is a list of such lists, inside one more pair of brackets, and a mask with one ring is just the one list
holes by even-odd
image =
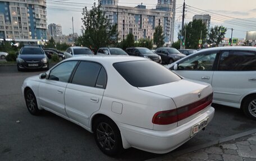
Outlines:
{"label": "white trunk lid of the foreground sedan, below its rear windshield", "polygon": [[184,79],[139,89],[172,98],[176,108],[196,102],[212,93],[212,86],[210,84]]}

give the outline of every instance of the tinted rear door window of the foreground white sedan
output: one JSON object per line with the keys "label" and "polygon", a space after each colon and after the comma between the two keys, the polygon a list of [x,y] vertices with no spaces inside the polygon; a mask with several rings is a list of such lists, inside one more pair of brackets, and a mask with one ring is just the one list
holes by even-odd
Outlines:
{"label": "tinted rear door window of the foreground white sedan", "polygon": [[72,79],[73,84],[95,87],[101,66],[94,62],[81,62]]}

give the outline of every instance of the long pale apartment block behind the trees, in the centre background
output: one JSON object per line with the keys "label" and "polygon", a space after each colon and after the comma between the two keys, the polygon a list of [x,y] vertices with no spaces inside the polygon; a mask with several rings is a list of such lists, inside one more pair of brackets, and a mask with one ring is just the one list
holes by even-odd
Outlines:
{"label": "long pale apartment block behind the trees, in the centre background", "polygon": [[156,9],[146,9],[142,3],[136,7],[118,6],[118,0],[102,0],[104,11],[110,24],[117,24],[119,39],[122,41],[129,33],[134,39],[153,39],[155,27],[163,27],[164,42],[173,42],[176,0],[158,0]]}

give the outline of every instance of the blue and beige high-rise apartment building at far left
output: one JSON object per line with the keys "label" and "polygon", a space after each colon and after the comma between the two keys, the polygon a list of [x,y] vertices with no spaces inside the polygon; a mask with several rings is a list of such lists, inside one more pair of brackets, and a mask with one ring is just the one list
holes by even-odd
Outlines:
{"label": "blue and beige high-rise apartment building at far left", "polygon": [[0,2],[0,40],[42,44],[47,39],[46,0]]}

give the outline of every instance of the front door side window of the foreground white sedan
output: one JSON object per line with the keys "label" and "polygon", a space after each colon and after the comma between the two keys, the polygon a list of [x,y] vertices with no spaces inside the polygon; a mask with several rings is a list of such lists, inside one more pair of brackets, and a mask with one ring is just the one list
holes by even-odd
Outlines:
{"label": "front door side window of the foreground white sedan", "polygon": [[76,66],[76,63],[77,61],[68,61],[61,63],[60,65],[54,67],[51,70],[48,79],[67,82],[71,75],[71,72],[74,70],[74,67]]}

